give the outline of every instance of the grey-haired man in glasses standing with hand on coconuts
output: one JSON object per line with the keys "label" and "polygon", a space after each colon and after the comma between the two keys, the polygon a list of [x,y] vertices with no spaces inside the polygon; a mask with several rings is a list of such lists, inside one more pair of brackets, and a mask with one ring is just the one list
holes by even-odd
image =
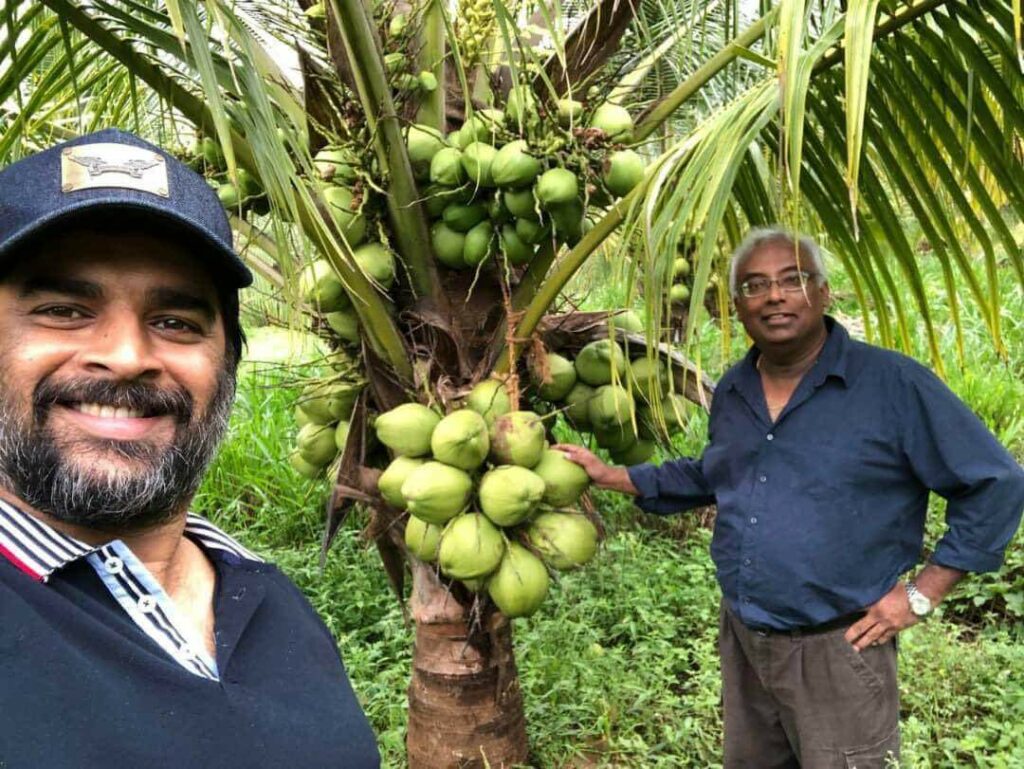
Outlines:
{"label": "grey-haired man in glasses standing with hand on coconuts", "polygon": [[[655,513],[715,503],[725,766],[887,766],[899,754],[896,636],[966,571],[998,568],[1024,472],[928,370],[825,315],[818,250],[752,233],[730,289],[754,340],[716,389],[700,459],[609,467]],[[945,536],[919,561],[929,492]]]}

